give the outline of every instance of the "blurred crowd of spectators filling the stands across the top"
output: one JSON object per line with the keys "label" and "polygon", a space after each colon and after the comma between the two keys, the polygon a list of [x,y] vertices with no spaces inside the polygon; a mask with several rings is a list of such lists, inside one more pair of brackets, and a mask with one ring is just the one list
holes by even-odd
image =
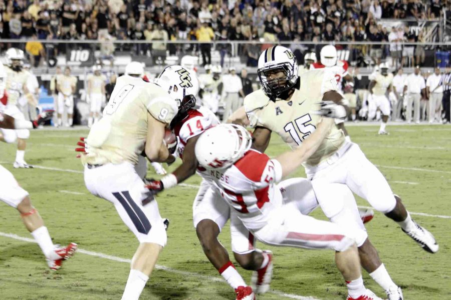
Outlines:
{"label": "blurred crowd of spectators filling the stands across the top", "polygon": [[[0,37],[149,40],[149,44],[140,46],[105,43],[102,54],[120,50],[150,56],[166,50],[170,54],[180,49],[200,50],[207,64],[211,45],[179,46],[164,41],[388,42],[391,28],[384,27],[381,18],[438,19],[450,7],[451,0],[0,0]],[[409,31],[408,27],[399,30],[403,30],[399,38],[405,41],[423,41],[421,32]],[[35,65],[42,63],[40,58],[56,55],[66,46],[44,45],[32,41],[26,48],[29,55],[38,58]],[[230,53],[230,45],[218,44],[216,50],[223,58]],[[248,65],[255,66],[261,47],[245,46],[241,50],[247,53]],[[375,60],[388,56],[381,46],[370,49],[361,45],[357,50],[364,54],[371,50]],[[419,47],[419,57],[421,50]]]}

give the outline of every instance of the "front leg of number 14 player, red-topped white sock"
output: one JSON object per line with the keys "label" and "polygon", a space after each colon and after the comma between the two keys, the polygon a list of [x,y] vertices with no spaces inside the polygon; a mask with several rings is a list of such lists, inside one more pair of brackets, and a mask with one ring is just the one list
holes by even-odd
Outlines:
{"label": "front leg of number 14 player, red-topped white sock", "polygon": [[193,206],[193,223],[202,250],[221,276],[234,288],[246,286],[230,260],[229,253],[217,239],[230,216],[230,206],[209,183],[202,180]]}

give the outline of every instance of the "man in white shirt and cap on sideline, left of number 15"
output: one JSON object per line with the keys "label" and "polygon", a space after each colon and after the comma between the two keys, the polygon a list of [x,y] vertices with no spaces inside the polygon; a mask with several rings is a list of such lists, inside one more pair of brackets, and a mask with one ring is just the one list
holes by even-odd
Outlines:
{"label": "man in white shirt and cap on sideline, left of number 15", "polygon": [[241,82],[240,76],[237,75],[235,67],[231,66],[229,68],[229,74],[225,74],[222,77],[223,92],[224,92],[224,115],[222,116],[222,121],[225,121],[229,116],[237,110],[242,102],[240,101],[240,96],[245,97],[243,92],[243,83]]}

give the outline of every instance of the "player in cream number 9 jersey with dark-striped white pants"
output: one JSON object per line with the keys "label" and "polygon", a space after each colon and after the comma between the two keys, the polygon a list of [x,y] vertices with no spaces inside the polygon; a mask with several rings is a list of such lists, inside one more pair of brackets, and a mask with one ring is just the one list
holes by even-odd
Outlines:
{"label": "player in cream number 9 jersey with dark-striped white pants", "polygon": [[177,106],[160,86],[141,78],[141,63],[130,62],[125,72],[117,78],[103,117],[91,127],[88,153],[81,159],[88,190],[112,202],[140,242],[122,295],[122,300],[137,300],[167,237],[158,204],[134,165],[143,151],[153,161],[175,160],[163,136]]}

